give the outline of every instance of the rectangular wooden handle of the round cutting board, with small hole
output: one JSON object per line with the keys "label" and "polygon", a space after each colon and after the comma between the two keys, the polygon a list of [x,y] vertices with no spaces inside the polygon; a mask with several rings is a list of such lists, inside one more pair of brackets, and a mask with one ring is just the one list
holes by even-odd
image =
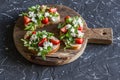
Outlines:
{"label": "rectangular wooden handle of the round cutting board, with small hole", "polygon": [[113,40],[112,28],[89,28],[86,33],[88,43],[111,44]]}

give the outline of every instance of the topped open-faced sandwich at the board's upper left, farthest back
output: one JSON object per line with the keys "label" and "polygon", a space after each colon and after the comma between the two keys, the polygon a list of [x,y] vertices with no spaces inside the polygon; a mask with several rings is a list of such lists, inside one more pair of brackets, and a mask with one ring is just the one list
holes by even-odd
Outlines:
{"label": "topped open-faced sandwich at the board's upper left, farthest back", "polygon": [[25,30],[35,30],[47,24],[56,24],[60,21],[57,8],[47,5],[36,5],[28,8],[28,11],[20,14],[23,16]]}

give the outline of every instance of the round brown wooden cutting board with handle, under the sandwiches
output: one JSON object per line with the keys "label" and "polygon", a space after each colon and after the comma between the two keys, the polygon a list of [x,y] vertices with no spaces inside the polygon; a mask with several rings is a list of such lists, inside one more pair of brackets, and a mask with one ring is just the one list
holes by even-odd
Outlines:
{"label": "round brown wooden cutting board with handle, under the sandwiches", "polygon": [[[63,5],[54,5],[58,8],[58,12],[61,16],[61,22],[64,21],[64,17],[69,16],[80,16],[79,13],[75,12],[74,10],[63,6]],[[47,25],[42,29],[37,30],[46,30],[52,33],[55,33],[56,37],[59,37],[59,30],[57,29],[58,24],[51,24]],[[87,43],[97,43],[97,44],[111,44],[113,32],[111,28],[88,28],[87,24],[84,23],[83,29],[85,36],[84,36],[84,43],[82,44],[80,50],[70,50],[67,49],[64,51],[64,44],[61,43],[60,49],[52,55],[47,55],[46,60],[42,60],[41,57],[33,56],[32,53],[23,46],[23,42],[20,40],[23,38],[26,31],[24,31],[24,24],[23,19],[20,17],[16,25],[14,27],[13,38],[16,45],[17,50],[30,62],[41,64],[41,65],[63,65],[70,62],[73,62],[77,58],[79,58],[82,53],[84,52]]]}

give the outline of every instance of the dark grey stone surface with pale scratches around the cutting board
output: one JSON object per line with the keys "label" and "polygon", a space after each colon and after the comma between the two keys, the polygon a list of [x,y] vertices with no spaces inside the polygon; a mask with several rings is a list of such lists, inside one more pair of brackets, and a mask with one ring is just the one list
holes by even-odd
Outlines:
{"label": "dark grey stone surface with pale scratches around the cutting board", "polygon": [[[66,5],[89,27],[112,27],[113,44],[88,44],[73,63],[47,67],[25,60],[13,43],[18,14],[35,4]],[[120,80],[120,0],[0,0],[0,80]]]}

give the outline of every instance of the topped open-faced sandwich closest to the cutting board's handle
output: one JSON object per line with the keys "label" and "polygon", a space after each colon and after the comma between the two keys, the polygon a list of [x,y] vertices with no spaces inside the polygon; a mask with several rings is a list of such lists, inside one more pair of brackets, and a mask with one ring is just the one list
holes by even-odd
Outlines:
{"label": "topped open-faced sandwich closest to the cutting board's handle", "polygon": [[84,41],[83,25],[84,21],[78,16],[66,16],[64,23],[59,24],[60,39],[65,43],[65,48],[80,49]]}

